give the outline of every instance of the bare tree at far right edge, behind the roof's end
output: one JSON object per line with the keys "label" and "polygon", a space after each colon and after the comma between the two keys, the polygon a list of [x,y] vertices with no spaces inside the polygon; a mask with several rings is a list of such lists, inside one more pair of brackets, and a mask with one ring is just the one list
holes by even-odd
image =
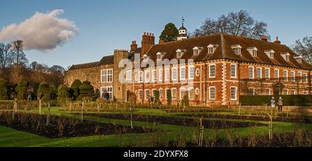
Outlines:
{"label": "bare tree at far right edge, behind the roof's end", "polygon": [[312,65],[312,37],[304,37],[302,41],[296,40],[293,50]]}

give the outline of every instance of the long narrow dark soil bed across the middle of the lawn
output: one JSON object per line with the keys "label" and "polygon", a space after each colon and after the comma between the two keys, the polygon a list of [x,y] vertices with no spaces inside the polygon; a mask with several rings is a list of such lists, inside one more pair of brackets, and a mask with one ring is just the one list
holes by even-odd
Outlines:
{"label": "long narrow dark soil bed across the middle of the lawn", "polygon": [[[73,113],[73,115],[79,115]],[[108,119],[123,119],[130,120],[130,115],[126,114],[96,114],[96,113],[84,113],[85,116],[91,117],[104,117]],[[199,119],[178,118],[178,117],[163,117],[152,115],[132,115],[133,121],[143,121],[157,124],[172,124],[177,126],[193,126],[198,127],[200,125]],[[202,125],[205,128],[245,128],[250,126],[265,126],[265,124],[238,122],[238,121],[219,121],[219,120],[202,120]]]}

